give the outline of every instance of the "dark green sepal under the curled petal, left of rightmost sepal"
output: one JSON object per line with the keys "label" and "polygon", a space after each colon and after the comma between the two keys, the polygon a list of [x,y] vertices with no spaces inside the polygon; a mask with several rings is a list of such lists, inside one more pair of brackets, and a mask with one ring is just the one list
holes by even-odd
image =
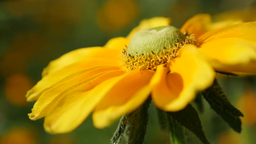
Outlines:
{"label": "dark green sepal under the curled petal, left of rightmost sepal", "polygon": [[189,131],[194,133],[198,139],[203,142],[203,144],[210,144],[203,132],[197,111],[192,105],[189,104],[181,111],[167,112],[167,114],[182,126],[187,128]]}

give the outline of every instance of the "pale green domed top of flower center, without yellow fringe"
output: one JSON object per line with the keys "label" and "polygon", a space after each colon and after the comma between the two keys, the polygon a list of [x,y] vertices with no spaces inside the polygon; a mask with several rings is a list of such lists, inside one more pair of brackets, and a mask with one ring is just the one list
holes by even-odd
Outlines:
{"label": "pale green domed top of flower center, without yellow fringe", "polygon": [[181,43],[184,35],[174,26],[160,26],[152,29],[144,29],[136,33],[127,48],[128,55],[136,56],[151,52],[159,53],[162,49],[171,49],[173,44]]}

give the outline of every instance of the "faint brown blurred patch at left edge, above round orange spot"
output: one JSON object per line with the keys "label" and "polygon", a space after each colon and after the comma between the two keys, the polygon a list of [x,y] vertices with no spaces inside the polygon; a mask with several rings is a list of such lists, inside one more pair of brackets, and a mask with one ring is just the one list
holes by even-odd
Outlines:
{"label": "faint brown blurred patch at left edge, above round orange spot", "polygon": [[23,73],[31,59],[51,48],[53,48],[53,43],[37,32],[20,33],[10,43],[9,49],[3,52],[0,61],[0,74],[7,77]]}

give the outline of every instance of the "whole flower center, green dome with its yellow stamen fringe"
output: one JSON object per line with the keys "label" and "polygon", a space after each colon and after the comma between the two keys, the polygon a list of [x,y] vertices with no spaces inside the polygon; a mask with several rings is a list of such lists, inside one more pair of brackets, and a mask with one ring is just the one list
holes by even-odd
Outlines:
{"label": "whole flower center, green dome with its yellow stamen fringe", "polygon": [[166,66],[176,58],[182,46],[195,43],[193,35],[184,35],[174,26],[144,29],[136,33],[123,50],[123,65],[128,70],[156,70],[158,65]]}

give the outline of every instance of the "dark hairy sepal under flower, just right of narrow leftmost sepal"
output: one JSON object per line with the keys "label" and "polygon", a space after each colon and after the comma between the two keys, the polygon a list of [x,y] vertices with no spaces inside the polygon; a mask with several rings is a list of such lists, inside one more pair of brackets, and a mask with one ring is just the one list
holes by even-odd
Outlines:
{"label": "dark hairy sepal under flower, just right of narrow leftmost sepal", "polygon": [[151,98],[148,98],[141,107],[128,115],[128,144],[143,144],[148,124],[148,108]]}

